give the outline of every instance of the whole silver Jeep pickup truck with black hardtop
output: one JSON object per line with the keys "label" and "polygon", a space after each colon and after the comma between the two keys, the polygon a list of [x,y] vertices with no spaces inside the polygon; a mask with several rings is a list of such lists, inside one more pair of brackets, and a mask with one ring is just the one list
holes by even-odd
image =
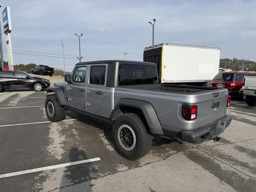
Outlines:
{"label": "whole silver Jeep pickup truck with black hardtop", "polygon": [[158,84],[156,64],[149,62],[80,62],[47,92],[50,121],[64,120],[65,110],[72,110],[110,122],[116,150],[129,160],[146,155],[154,135],[190,143],[219,140],[232,119],[226,88]]}

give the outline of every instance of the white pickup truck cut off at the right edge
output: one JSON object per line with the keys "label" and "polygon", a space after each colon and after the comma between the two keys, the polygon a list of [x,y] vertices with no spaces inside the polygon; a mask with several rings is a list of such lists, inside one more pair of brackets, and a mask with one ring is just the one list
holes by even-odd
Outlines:
{"label": "white pickup truck cut off at the right edge", "polygon": [[244,76],[244,86],[241,89],[249,106],[256,106],[256,74]]}

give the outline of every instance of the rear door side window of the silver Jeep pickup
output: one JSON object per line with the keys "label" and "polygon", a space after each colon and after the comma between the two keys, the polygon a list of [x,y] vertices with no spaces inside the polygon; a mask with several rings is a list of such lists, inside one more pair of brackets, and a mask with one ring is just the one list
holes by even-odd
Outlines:
{"label": "rear door side window of the silver Jeep pickup", "polygon": [[90,71],[90,84],[104,85],[106,66],[92,66]]}

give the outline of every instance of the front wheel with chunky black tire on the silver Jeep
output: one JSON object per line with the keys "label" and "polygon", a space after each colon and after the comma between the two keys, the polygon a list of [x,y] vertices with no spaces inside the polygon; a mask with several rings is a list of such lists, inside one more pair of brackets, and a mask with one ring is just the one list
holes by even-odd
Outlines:
{"label": "front wheel with chunky black tire on the silver Jeep", "polygon": [[[49,110],[50,106],[48,106],[48,105],[53,106],[53,108],[54,108],[53,113],[50,113],[50,110]],[[47,118],[51,122],[58,122],[58,121],[64,120],[66,118],[65,109],[60,106],[56,95],[50,95],[46,98],[45,112],[46,112]]]}

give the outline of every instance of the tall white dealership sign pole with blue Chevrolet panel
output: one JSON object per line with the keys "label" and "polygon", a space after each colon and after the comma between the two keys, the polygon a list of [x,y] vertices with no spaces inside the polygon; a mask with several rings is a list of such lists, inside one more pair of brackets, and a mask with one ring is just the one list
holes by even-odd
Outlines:
{"label": "tall white dealership sign pole with blue Chevrolet panel", "polygon": [[4,33],[6,37],[6,49],[7,49],[7,56],[8,56],[8,67],[9,70],[13,70],[13,57],[12,57],[12,40],[11,40],[11,16],[10,16],[10,7],[6,7],[2,12],[3,18],[3,26],[4,26]]}

